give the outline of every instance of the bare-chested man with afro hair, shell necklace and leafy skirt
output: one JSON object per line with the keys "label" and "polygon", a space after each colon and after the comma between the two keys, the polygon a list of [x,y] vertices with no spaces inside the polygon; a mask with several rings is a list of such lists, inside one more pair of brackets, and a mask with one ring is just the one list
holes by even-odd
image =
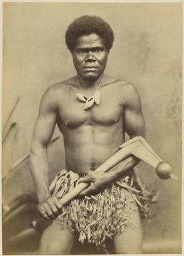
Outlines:
{"label": "bare-chested man with afro hair, shell necklace and leafy skirt", "polygon": [[[137,205],[144,211],[140,198],[146,199],[146,193],[132,170],[138,159],[130,156],[109,172],[93,172],[117,152],[125,132],[130,138],[145,136],[138,92],[132,84],[104,73],[113,40],[111,27],[100,17],[73,21],[66,44],[77,76],[50,86],[42,97],[30,164],[38,209],[53,221],[42,235],[40,254],[68,254],[76,232],[81,242],[87,239],[105,247],[106,237],[111,237],[116,253],[142,253]],[[58,174],[49,190],[46,150],[56,124],[64,136],[66,170]],[[130,189],[118,186],[117,180]],[[59,197],[76,182],[91,185],[63,207]]]}

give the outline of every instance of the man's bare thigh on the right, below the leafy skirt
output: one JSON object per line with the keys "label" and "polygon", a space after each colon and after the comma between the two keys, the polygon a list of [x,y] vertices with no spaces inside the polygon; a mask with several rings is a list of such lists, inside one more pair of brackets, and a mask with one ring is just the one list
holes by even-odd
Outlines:
{"label": "man's bare thigh on the right, below the leafy skirt", "polygon": [[142,225],[140,214],[136,203],[133,203],[134,211],[130,222],[119,235],[115,235],[115,251],[119,254],[138,254],[142,253]]}

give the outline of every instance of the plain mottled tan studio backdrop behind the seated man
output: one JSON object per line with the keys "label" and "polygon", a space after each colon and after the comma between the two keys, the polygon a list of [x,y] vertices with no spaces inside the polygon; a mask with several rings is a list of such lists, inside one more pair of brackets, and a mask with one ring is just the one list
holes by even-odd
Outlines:
{"label": "plain mottled tan studio backdrop behind the seated man", "polygon": [[[165,241],[165,247],[171,241],[179,244],[181,3],[3,3],[3,124],[20,96],[9,120],[10,124],[18,122],[19,128],[17,132],[11,129],[3,142],[3,175],[29,152],[44,90],[75,75],[64,35],[69,23],[84,14],[99,15],[113,28],[115,43],[106,73],[136,86],[147,140],[161,158],[173,164],[180,178],[179,182],[160,180],[145,163],[136,168],[147,186],[160,195],[156,215],[143,222],[144,241]],[[54,136],[58,134],[56,128]],[[50,147],[49,162],[51,172],[64,167],[62,138]],[[9,201],[25,190],[34,190],[27,163],[13,170],[3,184],[3,195]]]}

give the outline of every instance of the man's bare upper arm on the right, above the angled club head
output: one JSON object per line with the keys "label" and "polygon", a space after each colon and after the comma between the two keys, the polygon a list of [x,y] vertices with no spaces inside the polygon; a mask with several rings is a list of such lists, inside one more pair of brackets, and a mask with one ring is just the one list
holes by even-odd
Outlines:
{"label": "man's bare upper arm on the right, above the angled club head", "polygon": [[135,136],[145,137],[145,123],[140,96],[134,87],[131,88],[124,107],[124,128],[130,138]]}

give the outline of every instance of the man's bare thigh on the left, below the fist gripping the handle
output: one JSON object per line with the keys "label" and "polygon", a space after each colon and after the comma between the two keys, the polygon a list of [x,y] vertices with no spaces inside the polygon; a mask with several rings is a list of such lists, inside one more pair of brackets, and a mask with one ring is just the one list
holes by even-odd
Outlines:
{"label": "man's bare thigh on the left, below the fist gripping the handle", "polygon": [[67,227],[62,229],[55,219],[42,234],[39,254],[69,254],[73,241],[73,233]]}

